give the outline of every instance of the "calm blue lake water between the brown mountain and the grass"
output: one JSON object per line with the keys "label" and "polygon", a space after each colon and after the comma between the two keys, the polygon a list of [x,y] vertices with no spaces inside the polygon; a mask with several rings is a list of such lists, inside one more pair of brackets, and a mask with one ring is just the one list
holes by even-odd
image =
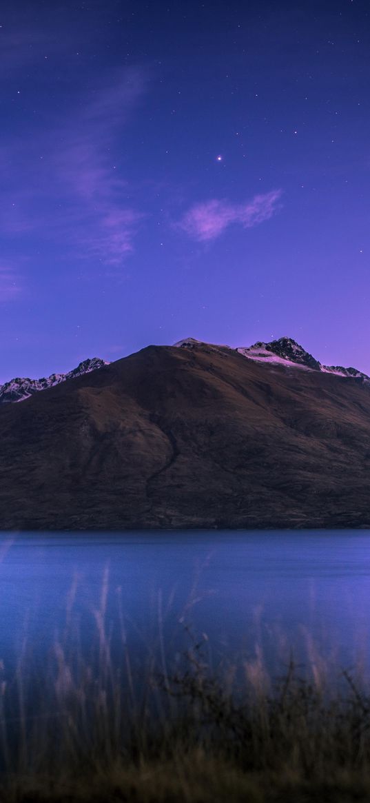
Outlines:
{"label": "calm blue lake water between the brown mountain and the grass", "polygon": [[1,536],[5,667],[22,645],[47,659],[74,583],[67,630],[88,647],[104,576],[113,649],[123,622],[137,662],[161,637],[170,659],[189,626],[216,658],[259,649],[273,671],[291,650],[307,661],[312,644],[338,666],[370,664],[370,532],[67,532]]}

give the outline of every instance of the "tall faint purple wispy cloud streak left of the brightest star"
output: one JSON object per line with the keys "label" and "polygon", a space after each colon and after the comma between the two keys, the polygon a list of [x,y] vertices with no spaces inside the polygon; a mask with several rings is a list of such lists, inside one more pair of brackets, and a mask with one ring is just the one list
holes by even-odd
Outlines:
{"label": "tall faint purple wispy cloud streak left of the brightest star", "polygon": [[[132,108],[144,92],[144,75],[124,71],[110,86],[98,88],[79,119],[63,132],[63,145],[53,157],[62,193],[74,216],[71,239],[80,255],[96,255],[119,264],[133,249],[142,214],[127,201],[116,140]],[[77,223],[77,225],[75,225]]]}

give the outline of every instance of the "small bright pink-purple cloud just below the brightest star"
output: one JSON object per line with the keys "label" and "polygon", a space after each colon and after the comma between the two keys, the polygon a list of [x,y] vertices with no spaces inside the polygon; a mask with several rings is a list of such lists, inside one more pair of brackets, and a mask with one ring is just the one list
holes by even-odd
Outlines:
{"label": "small bright pink-purple cloud just below the brightest star", "polygon": [[244,229],[258,226],[268,220],[279,209],[282,190],[255,195],[245,204],[230,204],[227,201],[207,201],[196,204],[179,222],[182,230],[199,241],[213,240],[222,234],[232,223]]}

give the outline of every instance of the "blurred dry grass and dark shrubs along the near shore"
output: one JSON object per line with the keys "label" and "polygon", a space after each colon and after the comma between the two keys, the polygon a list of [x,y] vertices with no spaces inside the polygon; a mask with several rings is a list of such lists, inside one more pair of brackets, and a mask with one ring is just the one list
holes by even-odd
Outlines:
{"label": "blurred dry grass and dark shrubs along the near shore", "polygon": [[25,652],[0,681],[2,803],[370,801],[364,679],[332,683],[315,657],[270,679],[258,650],[212,668],[189,630],[181,661],[160,638],[136,683],[124,630],[113,657],[106,602],[105,588],[88,659],[67,628],[48,666],[32,671]]}

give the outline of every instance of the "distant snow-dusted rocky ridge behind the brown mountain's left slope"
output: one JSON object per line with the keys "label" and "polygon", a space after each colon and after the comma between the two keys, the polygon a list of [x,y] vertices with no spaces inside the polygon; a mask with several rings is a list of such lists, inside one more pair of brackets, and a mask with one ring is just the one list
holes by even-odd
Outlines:
{"label": "distant snow-dusted rocky ridge behind the brown mountain's left slope", "polygon": [[68,373],[51,373],[50,377],[43,377],[43,379],[29,379],[28,377],[16,377],[0,385],[0,404],[7,402],[24,402],[25,399],[38,393],[39,390],[46,390],[52,388],[54,385],[59,385],[60,382],[65,382],[67,379],[81,377],[83,373],[90,373],[96,369],[102,368],[103,365],[109,365],[108,362],[100,360],[100,357],[92,357],[92,359],[83,360]]}

